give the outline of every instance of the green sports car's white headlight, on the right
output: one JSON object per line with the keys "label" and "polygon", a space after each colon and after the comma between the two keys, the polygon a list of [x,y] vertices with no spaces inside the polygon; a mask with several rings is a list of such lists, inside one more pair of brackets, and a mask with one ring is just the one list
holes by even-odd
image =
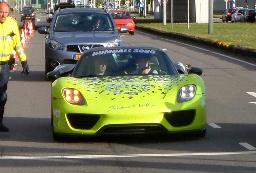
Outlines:
{"label": "green sports car's white headlight, on the right", "polygon": [[196,86],[193,84],[184,85],[180,88],[177,96],[177,102],[183,103],[190,101],[196,94]]}

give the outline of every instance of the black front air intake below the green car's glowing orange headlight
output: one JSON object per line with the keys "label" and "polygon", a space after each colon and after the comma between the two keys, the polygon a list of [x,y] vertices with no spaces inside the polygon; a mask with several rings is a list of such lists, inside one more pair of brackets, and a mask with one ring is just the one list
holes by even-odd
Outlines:
{"label": "black front air intake below the green car's glowing orange headlight", "polygon": [[99,115],[94,114],[68,114],[68,122],[74,129],[89,130],[99,120]]}

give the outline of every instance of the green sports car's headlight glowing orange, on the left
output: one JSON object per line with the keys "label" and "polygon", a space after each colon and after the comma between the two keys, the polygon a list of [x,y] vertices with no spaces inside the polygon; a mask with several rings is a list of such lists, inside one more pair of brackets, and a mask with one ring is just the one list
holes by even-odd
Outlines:
{"label": "green sports car's headlight glowing orange, on the left", "polygon": [[63,95],[66,101],[72,105],[85,105],[85,99],[76,89],[66,88],[63,90]]}

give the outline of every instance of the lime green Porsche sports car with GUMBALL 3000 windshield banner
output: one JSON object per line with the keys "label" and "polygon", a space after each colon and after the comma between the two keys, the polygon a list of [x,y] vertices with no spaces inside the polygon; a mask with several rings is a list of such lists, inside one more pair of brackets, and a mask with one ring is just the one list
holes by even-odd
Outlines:
{"label": "lime green Porsche sports car with GUMBALL 3000 windshield banner", "polygon": [[206,133],[202,69],[155,47],[98,47],[47,73],[54,139],[124,133]]}

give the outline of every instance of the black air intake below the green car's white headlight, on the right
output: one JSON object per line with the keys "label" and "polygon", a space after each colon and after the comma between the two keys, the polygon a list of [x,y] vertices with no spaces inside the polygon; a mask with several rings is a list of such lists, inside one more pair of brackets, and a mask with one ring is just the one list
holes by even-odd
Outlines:
{"label": "black air intake below the green car's white headlight, on the right", "polygon": [[193,122],[195,116],[196,110],[174,111],[164,114],[165,119],[173,127],[190,125]]}

